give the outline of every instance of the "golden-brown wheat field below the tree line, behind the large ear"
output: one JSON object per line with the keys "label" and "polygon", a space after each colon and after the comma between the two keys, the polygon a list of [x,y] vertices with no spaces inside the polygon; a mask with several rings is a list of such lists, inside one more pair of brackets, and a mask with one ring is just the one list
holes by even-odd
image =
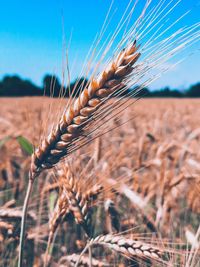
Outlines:
{"label": "golden-brown wheat field below the tree line, behind the large ear", "polygon": [[[65,102],[0,99],[0,266],[18,259],[22,138],[37,146]],[[142,99],[109,126],[36,178],[24,266],[199,266],[200,100]]]}

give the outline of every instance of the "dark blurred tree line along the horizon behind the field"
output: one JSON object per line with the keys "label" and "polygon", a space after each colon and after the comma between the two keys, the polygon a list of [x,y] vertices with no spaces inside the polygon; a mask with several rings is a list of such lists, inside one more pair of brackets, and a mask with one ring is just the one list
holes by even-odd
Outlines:
{"label": "dark blurred tree line along the horizon behind the field", "polygon": [[[74,96],[79,95],[79,92],[87,84],[87,79],[73,81],[67,87],[63,87],[56,76],[45,75],[42,86],[36,86],[29,80],[24,80],[17,75],[5,76],[0,81],[0,97],[22,97],[22,96],[53,96],[58,97],[61,94],[68,97],[72,92]],[[124,96],[131,95],[132,88],[123,93]],[[200,82],[191,85],[188,89],[180,91],[177,89],[170,89],[165,87],[160,90],[149,90],[143,88],[137,96],[139,97],[200,97]]]}

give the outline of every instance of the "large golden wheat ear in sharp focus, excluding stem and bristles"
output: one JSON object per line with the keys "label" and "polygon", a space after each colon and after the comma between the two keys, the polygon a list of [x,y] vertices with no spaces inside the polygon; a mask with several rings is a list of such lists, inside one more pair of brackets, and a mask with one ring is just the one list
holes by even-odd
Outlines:
{"label": "large golden wheat ear in sharp focus, excluding stem and bristles", "polygon": [[125,79],[140,57],[136,41],[123,49],[116,60],[97,79],[91,80],[79,97],[62,115],[60,122],[35,150],[31,161],[31,178],[46,168],[52,168],[68,154],[69,145],[77,139],[87,121],[98,110],[106,97],[125,87]]}

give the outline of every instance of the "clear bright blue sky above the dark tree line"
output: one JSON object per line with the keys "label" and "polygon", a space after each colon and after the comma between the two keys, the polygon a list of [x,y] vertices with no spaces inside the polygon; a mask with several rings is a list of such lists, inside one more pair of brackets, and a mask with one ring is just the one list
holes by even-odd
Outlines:
{"label": "clear bright blue sky above the dark tree line", "polygon": [[[41,84],[45,73],[61,77],[63,26],[66,39],[72,33],[70,59],[76,59],[79,73],[87,51],[100,30],[110,5],[109,0],[7,0],[0,3],[0,79],[6,74],[19,74]],[[111,24],[114,29],[129,0],[115,0],[117,13]],[[144,0],[140,0],[140,4]],[[199,0],[183,0],[174,16],[193,8],[183,24],[200,21]],[[62,23],[64,21],[64,23]],[[112,28],[113,27],[113,28]],[[72,30],[73,29],[73,30]],[[200,49],[198,45],[193,50]],[[165,75],[153,87],[183,88],[200,81],[200,51]],[[74,78],[72,77],[72,78]]]}

